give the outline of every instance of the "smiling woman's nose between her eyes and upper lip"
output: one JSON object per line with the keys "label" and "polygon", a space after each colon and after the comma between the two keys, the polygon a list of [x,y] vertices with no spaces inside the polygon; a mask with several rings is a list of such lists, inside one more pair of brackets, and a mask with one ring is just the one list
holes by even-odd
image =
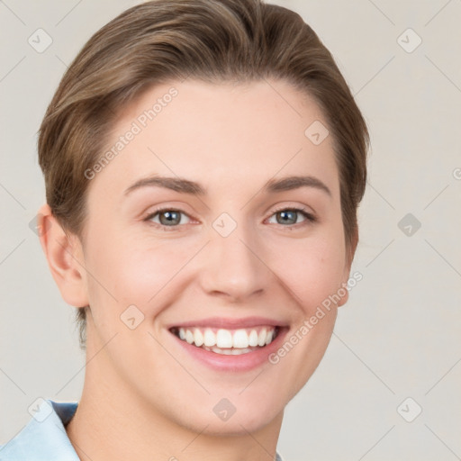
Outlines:
{"label": "smiling woman's nose between her eyes and upper lip", "polygon": [[221,297],[226,303],[245,302],[264,293],[274,276],[256,239],[251,239],[243,226],[237,226],[227,237],[210,231],[211,241],[200,271],[205,293]]}

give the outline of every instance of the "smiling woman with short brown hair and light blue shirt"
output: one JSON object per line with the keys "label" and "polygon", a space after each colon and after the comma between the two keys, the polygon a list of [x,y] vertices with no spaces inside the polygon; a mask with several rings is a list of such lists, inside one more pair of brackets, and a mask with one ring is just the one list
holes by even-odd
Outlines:
{"label": "smiling woman with short brown hair and light blue shirt", "polygon": [[41,124],[41,245],[78,308],[80,401],[2,459],[281,459],[347,302],[366,123],[298,14],[158,0],[106,24]]}

